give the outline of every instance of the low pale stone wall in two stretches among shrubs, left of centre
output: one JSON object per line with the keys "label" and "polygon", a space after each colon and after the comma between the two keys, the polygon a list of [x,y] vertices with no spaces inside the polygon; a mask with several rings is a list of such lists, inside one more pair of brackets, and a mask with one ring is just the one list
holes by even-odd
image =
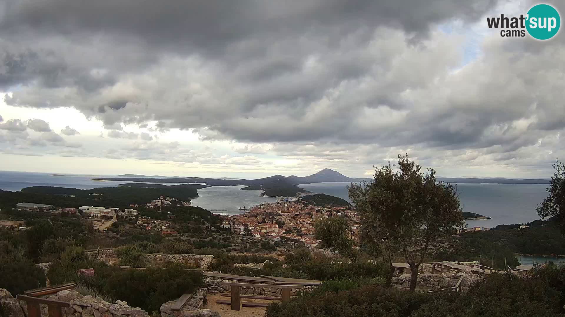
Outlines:
{"label": "low pale stone wall in two stretches among shrubs, left of centre", "polygon": [[[100,249],[98,251],[88,251],[86,254],[90,258],[98,259],[108,265],[118,265],[120,257],[116,249]],[[194,263],[198,261],[198,267],[207,270],[208,265],[214,261],[214,256],[208,254],[147,254],[147,259],[152,263],[163,263],[166,261],[179,263]]]}

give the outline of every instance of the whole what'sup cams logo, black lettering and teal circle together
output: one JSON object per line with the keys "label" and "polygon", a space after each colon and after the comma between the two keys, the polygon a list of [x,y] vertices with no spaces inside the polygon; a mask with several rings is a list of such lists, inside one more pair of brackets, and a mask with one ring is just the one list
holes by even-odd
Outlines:
{"label": "whole what'sup cams logo, black lettering and teal circle together", "polygon": [[535,5],[526,15],[508,17],[503,14],[487,17],[486,24],[490,29],[501,29],[502,37],[525,37],[526,31],[535,39],[550,39],[559,32],[561,18],[559,12],[550,5]]}

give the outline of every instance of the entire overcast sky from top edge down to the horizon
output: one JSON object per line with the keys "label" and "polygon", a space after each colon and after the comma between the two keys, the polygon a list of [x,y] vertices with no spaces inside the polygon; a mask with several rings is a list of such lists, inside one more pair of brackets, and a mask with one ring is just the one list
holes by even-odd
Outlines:
{"label": "entire overcast sky from top edge down to the horizon", "polygon": [[0,0],[0,170],[548,178],[565,34],[485,19],[536,3]]}

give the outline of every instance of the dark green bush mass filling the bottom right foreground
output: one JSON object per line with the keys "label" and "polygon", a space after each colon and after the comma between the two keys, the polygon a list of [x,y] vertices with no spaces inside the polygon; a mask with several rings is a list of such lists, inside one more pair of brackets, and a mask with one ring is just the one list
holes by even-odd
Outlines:
{"label": "dark green bush mass filling the bottom right foreground", "polygon": [[532,278],[485,276],[467,293],[406,292],[383,285],[355,288],[353,281],[332,281],[308,296],[289,303],[273,303],[266,317],[290,316],[385,316],[385,317],[557,317],[563,311],[564,267],[538,270]]}

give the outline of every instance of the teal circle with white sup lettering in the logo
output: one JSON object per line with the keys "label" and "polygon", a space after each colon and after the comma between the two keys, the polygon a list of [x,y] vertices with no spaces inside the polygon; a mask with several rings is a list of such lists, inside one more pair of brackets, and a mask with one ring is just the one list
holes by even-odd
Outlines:
{"label": "teal circle with white sup lettering in the logo", "polygon": [[561,18],[559,12],[550,5],[535,5],[526,17],[526,29],[536,39],[550,39],[559,32]]}

